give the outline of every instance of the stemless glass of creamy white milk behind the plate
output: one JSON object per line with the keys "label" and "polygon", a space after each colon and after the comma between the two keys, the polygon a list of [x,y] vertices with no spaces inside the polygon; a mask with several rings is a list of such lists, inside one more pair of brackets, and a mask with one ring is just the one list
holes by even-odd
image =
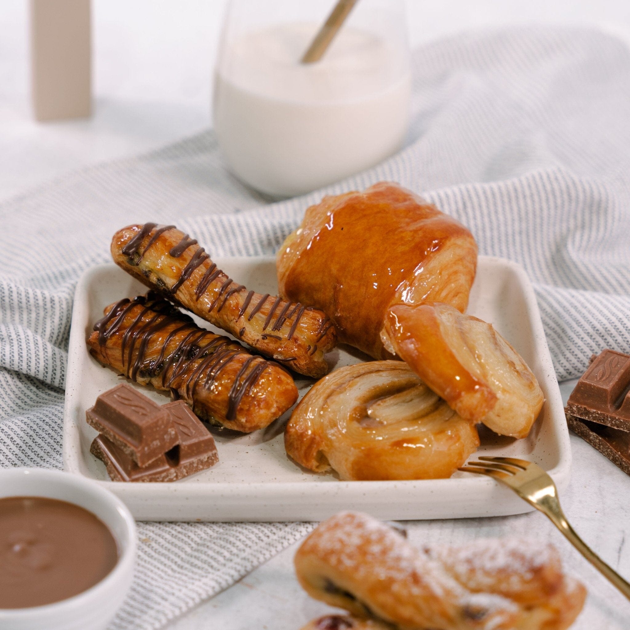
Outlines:
{"label": "stemless glass of creamy white milk behind the plate", "polygon": [[403,146],[410,55],[402,0],[358,0],[301,64],[335,0],[232,0],[215,72],[214,127],[229,169],[273,197],[306,193]]}

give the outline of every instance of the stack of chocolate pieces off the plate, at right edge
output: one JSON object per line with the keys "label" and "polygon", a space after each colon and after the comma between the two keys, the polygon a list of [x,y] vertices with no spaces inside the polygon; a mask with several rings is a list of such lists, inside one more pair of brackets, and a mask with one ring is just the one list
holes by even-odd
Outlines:
{"label": "stack of chocolate pieces off the plate, at right edge", "polygon": [[564,411],[573,432],[630,475],[630,355],[593,357]]}

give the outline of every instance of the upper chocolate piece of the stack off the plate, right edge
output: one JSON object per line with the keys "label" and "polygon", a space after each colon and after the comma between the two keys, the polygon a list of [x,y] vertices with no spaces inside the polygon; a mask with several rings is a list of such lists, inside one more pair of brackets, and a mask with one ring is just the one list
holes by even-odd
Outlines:
{"label": "upper chocolate piece of the stack off the plate, right edge", "polygon": [[604,350],[593,358],[569,396],[566,413],[630,431],[630,355]]}

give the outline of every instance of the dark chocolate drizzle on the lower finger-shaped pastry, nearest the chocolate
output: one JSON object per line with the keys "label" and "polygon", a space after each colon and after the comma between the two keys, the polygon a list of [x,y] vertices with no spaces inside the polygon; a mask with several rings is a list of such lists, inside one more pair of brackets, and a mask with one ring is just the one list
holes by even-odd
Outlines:
{"label": "dark chocolate drizzle on the lower finger-shaped pastry, nearest the chocolate", "polygon": [[[98,332],[100,345],[105,345],[120,329],[127,314],[137,306],[142,308],[123,333],[120,345],[120,358],[125,367],[124,374],[132,381],[137,381],[140,368],[143,375],[149,378],[161,373],[161,384],[165,389],[173,390],[183,387],[186,396],[192,397],[199,384],[205,388],[212,387],[222,370],[245,352],[235,341],[226,336],[217,337],[210,331],[193,328],[188,335],[181,338],[173,350],[168,351],[167,355],[171,340],[178,333],[191,328],[193,323],[192,319],[181,314],[172,304],[160,299],[152,292],[146,296],[139,295],[133,300],[125,298],[118,301],[105,317],[96,322],[94,329]],[[158,357],[147,363],[146,352],[152,336],[178,322],[181,322],[181,326],[173,329],[166,336]],[[203,341],[209,336],[212,339],[204,344]],[[194,370],[190,370],[190,362],[199,358],[203,360]],[[239,403],[251,392],[261,374],[270,365],[272,365],[271,362],[255,355],[243,362],[229,391],[227,420],[236,418]],[[175,387],[175,382],[184,374],[187,374],[186,381],[179,387]]]}

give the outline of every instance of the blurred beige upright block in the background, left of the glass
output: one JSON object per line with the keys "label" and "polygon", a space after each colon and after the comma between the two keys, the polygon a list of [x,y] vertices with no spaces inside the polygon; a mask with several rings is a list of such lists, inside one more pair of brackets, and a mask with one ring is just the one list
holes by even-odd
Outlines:
{"label": "blurred beige upright block in the background, left of the glass", "polygon": [[30,0],[36,120],[91,114],[90,0]]}

